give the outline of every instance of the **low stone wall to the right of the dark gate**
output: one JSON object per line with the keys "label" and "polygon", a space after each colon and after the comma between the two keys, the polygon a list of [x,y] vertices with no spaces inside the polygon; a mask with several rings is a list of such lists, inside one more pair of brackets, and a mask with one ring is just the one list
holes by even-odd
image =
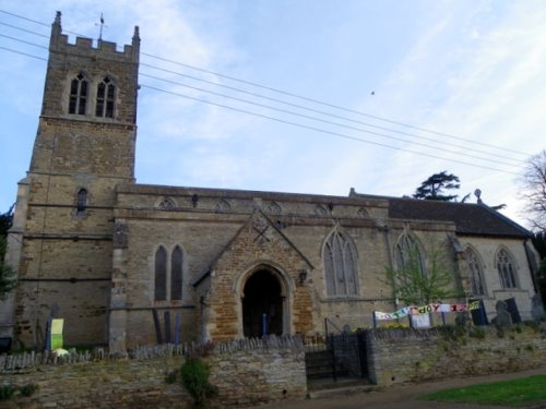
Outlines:
{"label": "low stone wall to the right of the dark gate", "polygon": [[[451,329],[450,329],[451,328]],[[546,328],[376,329],[367,334],[370,381],[378,385],[546,366]]]}

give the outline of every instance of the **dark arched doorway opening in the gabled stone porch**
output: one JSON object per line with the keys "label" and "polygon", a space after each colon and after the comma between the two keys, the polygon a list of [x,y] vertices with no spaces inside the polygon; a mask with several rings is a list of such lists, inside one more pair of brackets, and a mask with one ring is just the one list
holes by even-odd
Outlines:
{"label": "dark arched doorway opening in the gabled stone porch", "polygon": [[242,333],[245,337],[283,334],[283,293],[280,278],[269,269],[259,269],[242,290]]}

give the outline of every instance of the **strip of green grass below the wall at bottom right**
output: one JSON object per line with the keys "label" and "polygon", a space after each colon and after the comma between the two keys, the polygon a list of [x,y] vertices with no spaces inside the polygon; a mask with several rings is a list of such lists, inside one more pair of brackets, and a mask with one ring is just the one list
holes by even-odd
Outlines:
{"label": "strip of green grass below the wall at bottom right", "polygon": [[519,407],[546,401],[546,375],[440,390],[423,395],[420,399]]}

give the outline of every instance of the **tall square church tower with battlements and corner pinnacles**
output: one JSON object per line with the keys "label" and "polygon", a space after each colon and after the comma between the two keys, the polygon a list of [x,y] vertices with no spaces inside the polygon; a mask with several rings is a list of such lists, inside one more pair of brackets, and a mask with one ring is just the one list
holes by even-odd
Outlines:
{"label": "tall square church tower with battlements and corner pinnacles", "polygon": [[51,316],[64,318],[66,344],[107,342],[115,191],[134,182],[139,49],[138,27],[122,50],[71,44],[57,12],[9,238],[20,279],[12,333],[24,347],[43,346]]}

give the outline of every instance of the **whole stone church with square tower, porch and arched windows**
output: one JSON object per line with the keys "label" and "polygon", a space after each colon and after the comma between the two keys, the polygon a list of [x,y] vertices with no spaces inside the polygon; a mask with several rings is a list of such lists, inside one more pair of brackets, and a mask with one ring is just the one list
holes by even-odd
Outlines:
{"label": "whole stone church with square tower, porch and arched windows", "polygon": [[[2,335],[122,351],[173,340],[369,327],[399,304],[385,268],[410,251],[423,274],[440,249],[462,299],[489,318],[513,299],[531,318],[530,233],[477,204],[139,184],[134,179],[139,28],[70,41],[57,14],[28,172],[19,183],[8,262],[20,286]],[[435,250],[436,249],[436,250]]]}

